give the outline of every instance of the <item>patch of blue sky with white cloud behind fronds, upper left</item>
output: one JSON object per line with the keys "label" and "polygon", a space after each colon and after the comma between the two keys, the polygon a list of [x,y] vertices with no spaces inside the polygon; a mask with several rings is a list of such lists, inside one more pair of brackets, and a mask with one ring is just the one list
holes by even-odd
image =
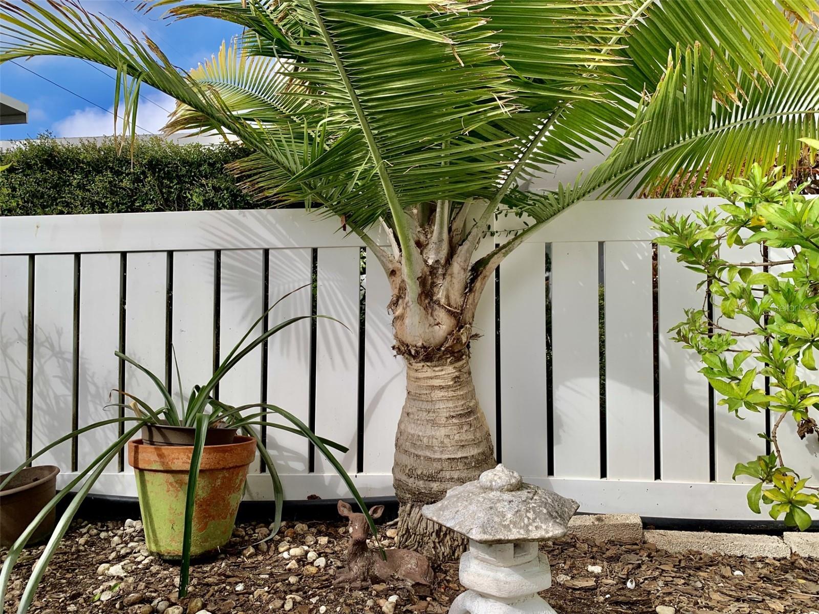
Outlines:
{"label": "patch of blue sky with white cloud behind fronds, upper left", "polygon": [[[239,27],[224,21],[197,17],[180,21],[162,19],[162,10],[147,15],[135,10],[133,0],[84,0],[89,12],[119,20],[135,34],[146,32],[175,65],[183,69],[219,49],[223,40],[239,34]],[[52,85],[35,74],[9,62],[0,65],[0,91],[29,105],[29,123],[0,126],[0,139],[36,137],[50,130],[57,137],[93,137],[111,134],[114,117],[114,71],[81,60],[62,57],[35,57],[15,60],[29,70],[87,98],[102,107],[93,106],[79,97]],[[165,94],[143,85],[137,123],[141,132],[154,133],[165,123],[165,110],[174,102]],[[150,101],[150,102],[149,102]],[[160,108],[161,107],[161,108]]]}

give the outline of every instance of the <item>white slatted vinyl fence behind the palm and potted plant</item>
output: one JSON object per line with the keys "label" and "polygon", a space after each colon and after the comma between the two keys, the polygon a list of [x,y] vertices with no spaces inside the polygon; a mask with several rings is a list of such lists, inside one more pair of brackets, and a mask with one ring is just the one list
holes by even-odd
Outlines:
{"label": "white slatted vinyl fence behind the palm and potted plant", "polygon": [[[576,205],[505,260],[482,300],[473,374],[498,455],[528,481],[580,501],[583,512],[766,518],[748,510],[748,486],[731,481],[731,472],[765,453],[757,433],[769,418],[740,421],[716,406],[695,355],[665,335],[703,296],[695,273],[654,247],[646,215],[706,204]],[[519,225],[504,219],[498,229]],[[315,276],[315,295],[310,287],[297,292],[268,325],[314,308],[349,330],[328,320],[288,328],[249,355],[219,397],[288,409],[349,446],[343,463],[364,496],[392,494],[404,380],[391,350],[389,291],[373,258],[361,268],[358,239],[336,227],[301,210],[0,219],[2,470],[72,427],[116,415],[103,409],[112,389],[159,403],[146,377],[114,350],[151,368],[177,395],[173,347],[187,394],[266,305]],[[117,427],[107,428],[40,463],[60,466],[65,483],[111,440]],[[817,446],[783,430],[789,464],[819,475]],[[346,495],[301,437],[268,430],[267,446],[287,499]],[[113,461],[95,491],[135,495],[129,472],[123,458]],[[254,467],[247,497],[270,495],[268,476]]]}

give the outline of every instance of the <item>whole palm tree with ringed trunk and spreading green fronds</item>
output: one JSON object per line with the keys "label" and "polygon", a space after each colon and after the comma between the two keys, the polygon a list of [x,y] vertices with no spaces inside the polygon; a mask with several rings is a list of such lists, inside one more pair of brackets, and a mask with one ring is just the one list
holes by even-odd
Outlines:
{"label": "whole palm tree with ringed trunk and spreading green fronds", "polygon": [[[0,61],[73,56],[117,71],[133,133],[141,84],[166,126],[232,133],[260,201],[336,215],[391,283],[407,396],[393,467],[400,541],[462,546],[423,503],[494,464],[469,370],[473,318],[501,260],[572,203],[683,174],[793,168],[817,137],[817,0],[227,0],[170,5],[242,26],[194,70],[70,0],[2,0]],[[150,4],[150,2],[149,2]],[[521,186],[610,151],[550,192]],[[497,214],[526,228],[478,258]],[[600,203],[605,214],[605,203]],[[371,237],[386,229],[389,246]]]}

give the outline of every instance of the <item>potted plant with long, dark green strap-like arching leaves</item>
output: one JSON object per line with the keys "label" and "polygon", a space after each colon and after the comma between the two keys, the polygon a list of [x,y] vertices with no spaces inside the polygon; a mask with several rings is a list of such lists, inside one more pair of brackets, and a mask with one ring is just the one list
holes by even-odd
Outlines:
{"label": "potted plant with long, dark green strap-like arching leaves", "polygon": [[[301,289],[301,288],[299,288]],[[291,293],[292,294],[292,293]],[[297,435],[304,436],[310,443],[312,443],[319,452],[324,455],[324,458],[327,458],[329,463],[333,465],[339,476],[342,476],[342,479],[346,483],[347,487],[350,489],[351,494],[355,501],[359,504],[360,508],[364,511],[364,514],[369,521],[369,525],[371,530],[373,530],[373,535],[377,535],[377,529],[373,523],[373,519],[369,516],[367,512],[367,507],[364,504],[364,501],[361,499],[361,495],[359,494],[358,490],[355,488],[355,484],[351,480],[350,476],[344,470],[341,463],[337,461],[337,459],[333,456],[330,452],[329,448],[334,448],[342,451],[342,453],[347,451],[347,448],[343,445],[337,444],[334,441],[324,439],[324,437],[319,437],[314,434],[313,431],[310,431],[310,427],[307,427],[304,422],[301,422],[296,416],[292,415],[292,413],[287,412],[286,410],[277,407],[274,404],[268,403],[256,403],[256,404],[246,404],[241,405],[238,407],[234,407],[229,404],[225,404],[220,400],[216,400],[213,393],[215,391],[216,385],[219,381],[233,368],[236,364],[242,360],[247,354],[251,352],[254,348],[260,345],[265,340],[269,339],[269,337],[274,336],[277,332],[282,331],[284,328],[292,326],[297,322],[300,322],[304,319],[309,319],[311,316],[297,316],[295,318],[288,318],[281,323],[276,324],[274,327],[270,328],[269,330],[262,333],[260,336],[257,336],[255,339],[251,341],[247,341],[247,338],[251,335],[251,332],[258,326],[265,315],[269,314],[269,312],[275,308],[278,303],[286,298],[289,295],[283,296],[281,299],[276,301],[276,303],[263,314],[259,319],[256,320],[255,323],[247,330],[242,339],[233,347],[233,350],[229,352],[229,354],[225,357],[221,364],[219,364],[219,368],[217,368],[210,380],[206,382],[206,384],[202,386],[193,386],[191,394],[188,397],[187,403],[183,400],[181,394],[181,381],[179,380],[179,367],[177,366],[177,375],[178,375],[178,386],[179,386],[179,403],[174,401],[168,387],[161,381],[159,377],[148,370],[147,368],[143,367],[143,365],[139,364],[135,360],[129,358],[125,354],[121,354],[120,352],[115,352],[116,356],[119,359],[124,360],[125,362],[132,364],[133,367],[138,368],[138,370],[145,373],[147,377],[151,379],[154,386],[156,386],[156,390],[159,391],[163,405],[159,409],[153,409],[151,405],[147,404],[144,400],[139,399],[138,397],[131,395],[124,391],[116,391],[119,392],[120,395],[123,397],[131,400],[131,403],[113,403],[110,404],[109,407],[119,407],[121,409],[130,409],[133,410],[133,413],[136,415],[131,416],[122,416],[120,415],[119,418],[109,418],[106,420],[102,420],[99,422],[95,422],[87,427],[79,428],[76,431],[70,432],[66,436],[62,436],[59,439],[53,441],[51,444],[45,446],[41,449],[38,453],[33,454],[31,457],[26,458],[24,463],[20,464],[20,467],[17,467],[15,471],[11,472],[5,480],[2,481],[0,484],[0,488],[7,484],[8,481],[11,480],[12,477],[16,476],[24,467],[29,466],[34,460],[40,457],[42,454],[48,452],[48,450],[60,445],[61,443],[71,440],[76,436],[82,435],[84,432],[92,431],[93,429],[99,427],[105,427],[110,424],[123,424],[125,425],[124,432],[117,436],[111,445],[109,445],[105,451],[102,452],[97,458],[93,460],[92,463],[85,467],[83,471],[79,472],[79,474],[72,480],[64,489],[57,493],[57,495],[52,499],[38,514],[34,521],[28,526],[28,528],[20,535],[20,538],[11,545],[11,549],[9,549],[6,561],[3,564],[2,571],[0,571],[0,612],[5,612],[3,609],[3,604],[5,601],[5,595],[8,587],[8,581],[11,577],[11,571],[15,566],[17,559],[20,557],[20,553],[25,548],[25,544],[28,543],[29,538],[34,533],[34,530],[39,525],[40,521],[43,520],[44,517],[48,515],[52,509],[57,507],[57,503],[61,501],[61,499],[65,498],[72,490],[75,488],[77,489],[75,492],[75,496],[71,499],[70,503],[68,504],[66,511],[60,517],[60,520],[57,521],[57,526],[52,533],[51,539],[48,540],[48,544],[46,544],[43,553],[40,555],[38,562],[34,565],[33,570],[31,571],[31,576],[29,577],[28,584],[25,587],[25,591],[20,598],[20,605],[17,609],[18,614],[25,614],[28,611],[33,599],[34,594],[37,590],[40,580],[43,577],[43,572],[45,571],[46,567],[48,567],[48,562],[54,556],[54,553],[57,551],[57,547],[60,544],[60,541],[63,535],[66,535],[66,531],[70,526],[70,522],[75,516],[75,513],[79,509],[80,504],[83,502],[83,499],[88,494],[88,492],[93,487],[94,483],[97,481],[99,476],[102,475],[102,472],[105,471],[108,463],[111,462],[112,458],[115,458],[117,454],[120,453],[120,449],[124,447],[128,443],[128,441],[137,434],[137,432],[147,424],[156,424],[156,425],[165,425],[170,424],[173,426],[183,426],[183,427],[193,427],[195,429],[195,437],[193,442],[193,451],[192,451],[192,458],[191,464],[188,472],[188,490],[185,498],[185,512],[184,512],[184,529],[183,529],[183,542],[182,542],[182,561],[181,561],[181,570],[180,570],[180,578],[179,578],[179,596],[184,597],[187,594],[188,589],[188,578],[189,578],[189,570],[190,570],[190,559],[191,559],[191,540],[192,540],[192,520],[193,520],[193,512],[194,512],[194,498],[197,491],[197,480],[199,476],[199,467],[202,458],[202,453],[205,449],[205,438],[207,431],[212,428],[219,428],[219,427],[229,427],[229,428],[236,428],[242,431],[242,434],[246,436],[250,436],[256,440],[256,449],[259,451],[261,458],[264,460],[265,467],[267,468],[267,472],[269,473],[270,480],[273,483],[273,491],[274,491],[274,498],[275,498],[275,512],[274,512],[274,530],[271,531],[271,536],[275,535],[278,531],[279,526],[281,525],[282,521],[282,503],[283,503],[283,487],[282,483],[278,478],[278,472],[276,471],[276,466],[274,464],[273,458],[270,456],[268,450],[263,445],[260,432],[256,430],[256,427],[270,427],[270,428],[277,428],[283,431],[289,431],[292,433],[296,433]],[[333,321],[336,321],[335,318],[329,318],[328,316],[316,316],[318,318],[328,318]],[[343,324],[342,324],[343,326]],[[247,341],[247,344],[245,343]],[[252,413],[246,413],[249,410],[256,410]],[[290,422],[292,426],[287,426],[285,424],[279,424],[278,422],[270,422],[268,419],[269,414],[276,414],[281,418],[284,418],[287,422]]]}

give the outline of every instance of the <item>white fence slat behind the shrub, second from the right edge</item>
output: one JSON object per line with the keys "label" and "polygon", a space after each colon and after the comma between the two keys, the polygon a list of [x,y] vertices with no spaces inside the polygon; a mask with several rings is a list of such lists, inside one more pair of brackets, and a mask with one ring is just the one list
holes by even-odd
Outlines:
{"label": "white fence slat behind the shrub, second from the right edge", "polygon": [[[759,254],[758,246],[741,249],[739,246],[723,247],[722,258],[729,262],[760,262],[762,256]],[[762,269],[758,269],[762,270]],[[714,318],[718,319],[720,316],[720,297],[713,296],[713,314]],[[753,322],[744,316],[739,316],[735,320],[722,320],[722,326],[731,328],[736,332],[751,332],[753,330]],[[736,337],[735,350],[751,350],[758,346],[760,337]],[[733,355],[726,353],[729,362],[733,359]],[[745,368],[762,368],[762,363],[756,360],[749,359],[745,362]],[[765,378],[757,376],[754,386],[759,389],[764,389]],[[722,399],[717,391],[713,391],[714,395],[714,441],[716,453],[716,478],[719,482],[730,482],[731,475],[734,472],[736,463],[747,463],[753,458],[757,458],[759,454],[765,454],[765,440],[758,437],[758,433],[765,432],[765,413],[753,413],[747,409],[740,408],[740,420],[733,413],[728,413],[728,408],[725,405],[717,405],[717,401]],[[738,476],[737,481],[746,483],[754,483],[757,480],[750,476]]]}

